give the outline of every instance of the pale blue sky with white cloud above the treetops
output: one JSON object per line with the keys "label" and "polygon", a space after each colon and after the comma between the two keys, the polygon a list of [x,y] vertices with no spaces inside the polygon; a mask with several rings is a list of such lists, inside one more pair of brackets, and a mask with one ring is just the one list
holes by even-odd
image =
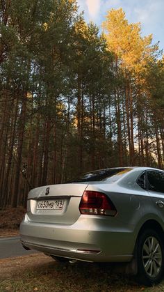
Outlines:
{"label": "pale blue sky with white cloud above the treetops", "polygon": [[107,11],[122,7],[129,23],[141,22],[142,36],[153,34],[153,43],[160,41],[164,49],[164,0],[76,0],[79,11],[84,11],[86,22],[99,27]]}

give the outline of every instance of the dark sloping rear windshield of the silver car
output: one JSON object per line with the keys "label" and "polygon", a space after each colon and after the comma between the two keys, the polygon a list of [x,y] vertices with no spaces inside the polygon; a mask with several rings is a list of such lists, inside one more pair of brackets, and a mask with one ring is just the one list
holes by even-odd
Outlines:
{"label": "dark sloping rear windshield of the silver car", "polygon": [[124,176],[132,169],[100,169],[97,171],[90,171],[86,174],[82,174],[74,180],[70,180],[69,183],[82,183],[88,181],[102,181],[106,183],[114,183],[116,180]]}

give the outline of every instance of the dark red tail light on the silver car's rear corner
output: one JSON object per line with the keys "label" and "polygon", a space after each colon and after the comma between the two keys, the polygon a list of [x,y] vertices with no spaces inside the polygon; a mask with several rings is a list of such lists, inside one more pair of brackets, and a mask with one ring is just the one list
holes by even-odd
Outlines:
{"label": "dark red tail light on the silver car's rear corner", "polygon": [[112,201],[102,192],[85,191],[81,198],[81,214],[115,216],[117,210]]}

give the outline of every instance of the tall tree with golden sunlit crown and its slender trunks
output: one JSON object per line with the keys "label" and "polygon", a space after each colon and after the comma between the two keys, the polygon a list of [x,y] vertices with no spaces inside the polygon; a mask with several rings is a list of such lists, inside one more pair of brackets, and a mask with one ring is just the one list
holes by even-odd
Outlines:
{"label": "tall tree with golden sunlit crown and its slender trunks", "polygon": [[[151,35],[141,36],[140,23],[128,23],[122,8],[110,10],[103,27],[106,31],[108,49],[115,53],[116,74],[121,69],[124,75],[124,93],[121,92],[120,94],[120,89],[116,89],[114,96],[120,164],[122,164],[124,158],[122,157],[122,132],[126,130],[129,164],[133,165],[136,163],[135,142],[138,144],[138,139],[135,139],[135,136],[137,137],[136,126],[138,123],[136,107],[140,103],[141,91],[142,95],[146,91],[143,86],[145,68],[158,51],[158,46],[151,45]],[[125,123],[123,121],[124,116]],[[140,117],[138,117],[138,120],[140,120]],[[140,143],[143,143],[141,135]],[[146,142],[146,144],[148,143],[149,141]]]}

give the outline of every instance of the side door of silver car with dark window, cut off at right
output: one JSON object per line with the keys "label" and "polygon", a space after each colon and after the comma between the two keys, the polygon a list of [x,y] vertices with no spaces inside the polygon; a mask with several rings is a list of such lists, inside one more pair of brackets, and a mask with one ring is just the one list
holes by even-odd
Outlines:
{"label": "side door of silver car with dark window, cut off at right", "polygon": [[164,171],[147,171],[147,190],[164,224]]}

